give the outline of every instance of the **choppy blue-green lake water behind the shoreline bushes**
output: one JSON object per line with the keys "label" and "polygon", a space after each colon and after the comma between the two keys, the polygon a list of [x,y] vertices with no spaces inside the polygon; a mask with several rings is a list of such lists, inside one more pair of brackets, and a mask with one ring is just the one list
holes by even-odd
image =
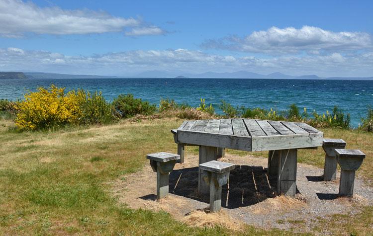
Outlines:
{"label": "choppy blue-green lake water behind the shoreline bushes", "polygon": [[159,104],[161,98],[198,106],[200,98],[218,105],[225,100],[233,105],[285,110],[296,103],[301,111],[331,111],[334,105],[351,114],[351,125],[357,127],[373,106],[373,80],[307,80],[307,79],[12,79],[0,80],[0,98],[16,100],[38,86],[54,83],[67,89],[99,90],[107,100],[120,93]]}

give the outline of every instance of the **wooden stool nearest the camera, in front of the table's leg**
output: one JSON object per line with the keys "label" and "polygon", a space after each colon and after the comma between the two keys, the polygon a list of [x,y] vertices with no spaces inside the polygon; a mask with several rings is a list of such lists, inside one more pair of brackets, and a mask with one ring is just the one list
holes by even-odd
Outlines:
{"label": "wooden stool nearest the camera, in front of the table's leg", "polygon": [[218,212],[221,209],[221,186],[228,183],[229,172],[235,168],[234,164],[211,160],[199,164],[201,171],[207,172],[204,181],[210,184],[210,211]]}

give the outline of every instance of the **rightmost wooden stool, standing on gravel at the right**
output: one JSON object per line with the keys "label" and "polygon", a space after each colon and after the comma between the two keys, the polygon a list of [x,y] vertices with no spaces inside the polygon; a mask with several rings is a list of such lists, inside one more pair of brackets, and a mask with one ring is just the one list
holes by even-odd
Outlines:
{"label": "rightmost wooden stool, standing on gravel at the right", "polygon": [[341,166],[339,196],[352,197],[354,193],[355,171],[363,163],[365,154],[360,150],[336,149],[337,161]]}

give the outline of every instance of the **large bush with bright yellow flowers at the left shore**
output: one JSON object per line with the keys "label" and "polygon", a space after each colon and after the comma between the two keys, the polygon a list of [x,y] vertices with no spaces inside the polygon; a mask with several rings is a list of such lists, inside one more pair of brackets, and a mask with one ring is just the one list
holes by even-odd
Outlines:
{"label": "large bush with bright yellow flowers at the left shore", "polygon": [[18,130],[58,128],[65,125],[104,124],[112,121],[111,105],[101,93],[83,89],[65,92],[51,85],[28,92],[15,104]]}

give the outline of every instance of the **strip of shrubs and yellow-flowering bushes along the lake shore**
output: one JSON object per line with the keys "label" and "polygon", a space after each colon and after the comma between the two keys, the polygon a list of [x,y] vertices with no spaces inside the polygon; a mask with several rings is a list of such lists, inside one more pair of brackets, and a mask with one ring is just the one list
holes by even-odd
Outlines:
{"label": "strip of shrubs and yellow-flowering bushes along the lake shore", "polygon": [[[51,85],[39,87],[35,92],[28,92],[23,100],[16,102],[0,100],[2,116],[15,117],[16,129],[38,130],[61,128],[71,125],[108,124],[119,119],[155,119],[178,117],[182,119],[208,118],[253,118],[279,121],[305,122],[316,128],[352,129],[350,115],[337,106],[323,113],[290,104],[287,110],[277,111],[272,108],[252,108],[233,106],[225,101],[218,105],[222,114],[216,114],[212,104],[200,99],[198,107],[178,104],[174,99],[161,98],[159,106],[150,104],[133,94],[120,94],[112,102],[105,101],[101,92],[89,92],[84,89],[66,92],[65,88]],[[373,110],[368,108],[367,117],[362,118],[360,127],[363,131],[373,132]]]}

